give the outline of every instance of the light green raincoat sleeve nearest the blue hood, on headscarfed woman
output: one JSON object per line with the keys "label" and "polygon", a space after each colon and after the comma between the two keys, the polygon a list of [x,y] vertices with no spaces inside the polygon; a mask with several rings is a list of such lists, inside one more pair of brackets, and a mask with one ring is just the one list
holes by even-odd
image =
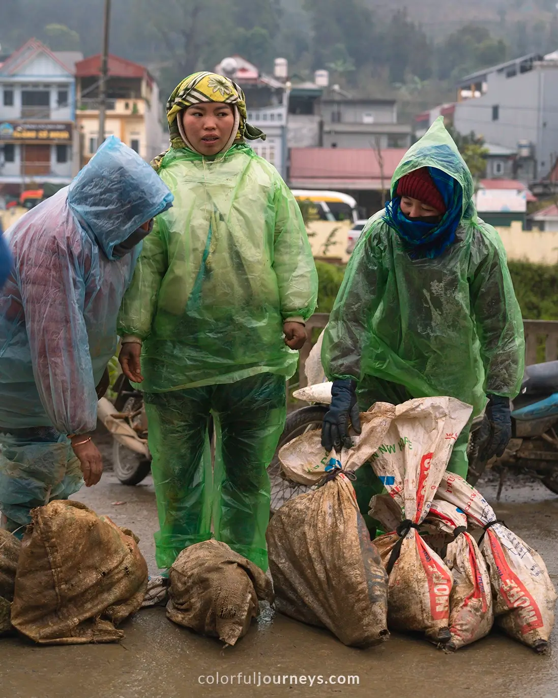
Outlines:
{"label": "light green raincoat sleeve nearest the blue hood, on headscarfed woman", "polygon": [[153,230],[143,241],[132,283],[124,295],[119,314],[118,332],[146,339],[157,306],[157,296],[167,269],[167,251],[161,237],[161,216],[153,221]]}

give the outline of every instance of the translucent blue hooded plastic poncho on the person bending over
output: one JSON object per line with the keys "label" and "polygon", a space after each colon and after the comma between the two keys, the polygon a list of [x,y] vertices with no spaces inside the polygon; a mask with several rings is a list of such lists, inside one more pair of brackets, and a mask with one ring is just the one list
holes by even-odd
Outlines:
{"label": "translucent blue hooded plastic poncho on the person bending over", "polygon": [[69,187],[6,232],[14,271],[0,291],[0,429],[95,429],[95,387],[141,248],[116,259],[114,246],[172,200],[148,163],[111,137]]}

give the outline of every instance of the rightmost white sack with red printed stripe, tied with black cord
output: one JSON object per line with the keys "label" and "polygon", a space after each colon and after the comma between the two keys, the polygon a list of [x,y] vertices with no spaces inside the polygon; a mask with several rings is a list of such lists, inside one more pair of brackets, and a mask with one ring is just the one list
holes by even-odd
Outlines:
{"label": "rightmost white sack with red printed stripe, tied with black cord", "polygon": [[543,653],[554,625],[556,592],[543,558],[496,518],[481,493],[446,473],[437,497],[460,507],[470,526],[483,528],[479,548],[488,565],[496,623]]}

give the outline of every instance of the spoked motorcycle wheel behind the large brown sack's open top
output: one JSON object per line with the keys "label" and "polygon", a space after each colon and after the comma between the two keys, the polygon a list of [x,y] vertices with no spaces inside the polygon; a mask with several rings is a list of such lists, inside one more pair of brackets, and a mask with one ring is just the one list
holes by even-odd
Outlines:
{"label": "spoked motorcycle wheel behind the large brown sack's open top", "polygon": [[283,429],[280,436],[273,461],[267,468],[269,480],[271,481],[271,516],[289,499],[293,499],[299,496],[299,494],[312,489],[311,485],[299,484],[299,482],[289,480],[283,473],[278,456],[280,448],[292,441],[296,436],[301,436],[301,434],[312,431],[312,429],[321,429],[327,410],[328,408],[324,405],[311,405],[300,410],[294,410],[294,412],[287,415],[285,429]]}

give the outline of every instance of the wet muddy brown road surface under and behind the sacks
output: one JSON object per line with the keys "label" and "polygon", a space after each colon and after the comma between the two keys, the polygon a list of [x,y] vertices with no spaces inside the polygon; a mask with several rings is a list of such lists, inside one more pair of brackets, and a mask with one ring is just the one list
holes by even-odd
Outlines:
{"label": "wet muddy brown road surface under and behind the sacks", "polygon": [[[479,489],[494,499],[495,486],[481,484]],[[138,487],[126,488],[112,473],[106,473],[97,487],[82,490],[76,498],[109,514],[116,523],[130,526],[141,537],[140,547],[150,569],[155,569],[156,506],[150,478]],[[558,497],[538,484],[508,486],[496,508],[510,528],[541,552],[557,584]],[[165,618],[163,607],[140,611],[121,627],[126,638],[114,645],[36,647],[21,639],[0,640],[0,697],[558,696],[556,630],[554,651],[539,657],[497,632],[454,655],[444,655],[420,637],[395,634],[378,648],[356,650],[325,630],[279,614],[273,617],[271,611],[260,617],[239,644],[226,649],[216,640],[173,625]],[[239,672],[242,682],[251,677],[252,684],[239,686]],[[275,681],[279,677],[282,683],[254,686],[258,674],[260,681],[269,676]],[[233,684],[230,676],[234,676]],[[296,684],[291,683],[294,676]],[[310,678],[300,683],[300,676],[315,677],[313,685]],[[319,683],[318,676],[324,683]],[[338,676],[358,676],[359,683],[342,684]]]}

